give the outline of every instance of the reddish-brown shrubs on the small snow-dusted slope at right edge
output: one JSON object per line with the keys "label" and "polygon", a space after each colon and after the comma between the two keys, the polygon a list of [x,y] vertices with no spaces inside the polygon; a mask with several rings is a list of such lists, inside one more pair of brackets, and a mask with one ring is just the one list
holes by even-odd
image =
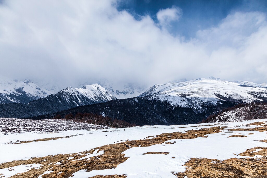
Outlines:
{"label": "reddish-brown shrubs on the small snow-dusted slope at right edge", "polygon": [[[237,109],[237,108],[242,108],[244,106],[251,106],[249,110],[246,110],[246,112],[248,113],[251,113],[249,116],[246,116],[245,120],[250,120],[250,119],[254,119],[254,115],[257,115],[257,111],[259,109],[261,109],[260,107],[258,106],[262,106],[262,105],[267,105],[267,103],[262,103],[262,102],[252,102],[250,104],[237,104],[233,107],[229,107],[229,108],[226,108],[226,109],[223,109],[222,111],[218,112],[217,114],[211,114],[209,115],[206,119],[203,119],[200,123],[208,123],[208,122],[214,122],[215,121],[215,117],[218,117],[220,119],[220,115],[224,112],[228,112],[228,111],[231,111],[231,110],[234,110],[234,109]],[[260,114],[262,114],[262,112],[258,112]]]}

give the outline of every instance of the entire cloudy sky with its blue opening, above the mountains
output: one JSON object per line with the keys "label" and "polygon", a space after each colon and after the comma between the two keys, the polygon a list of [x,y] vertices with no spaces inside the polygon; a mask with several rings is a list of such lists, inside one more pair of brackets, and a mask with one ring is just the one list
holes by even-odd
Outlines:
{"label": "entire cloudy sky with its blue opening, above the mountains", "polygon": [[267,82],[267,1],[0,0],[0,75]]}

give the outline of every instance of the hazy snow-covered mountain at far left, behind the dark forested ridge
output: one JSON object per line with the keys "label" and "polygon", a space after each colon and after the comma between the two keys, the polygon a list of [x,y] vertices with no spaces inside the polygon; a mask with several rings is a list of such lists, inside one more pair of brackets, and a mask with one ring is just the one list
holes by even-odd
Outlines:
{"label": "hazy snow-covered mountain at far left, behind the dark forested ridge", "polygon": [[46,89],[40,88],[38,85],[26,79],[18,80],[2,80],[0,82],[0,104],[6,103],[23,103],[46,97],[52,94]]}

